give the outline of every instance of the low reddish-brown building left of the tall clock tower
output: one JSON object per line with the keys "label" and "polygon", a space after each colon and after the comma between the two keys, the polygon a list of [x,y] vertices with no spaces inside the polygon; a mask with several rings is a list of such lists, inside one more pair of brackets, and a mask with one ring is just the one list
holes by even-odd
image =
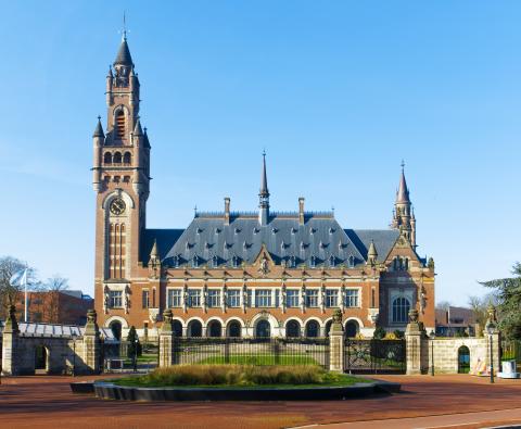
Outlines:
{"label": "low reddish-brown building left of the tall clock tower", "polygon": [[[80,290],[29,291],[28,321],[63,325],[85,325],[87,311],[94,307],[94,300]],[[24,320],[25,295],[16,301],[16,317]]]}

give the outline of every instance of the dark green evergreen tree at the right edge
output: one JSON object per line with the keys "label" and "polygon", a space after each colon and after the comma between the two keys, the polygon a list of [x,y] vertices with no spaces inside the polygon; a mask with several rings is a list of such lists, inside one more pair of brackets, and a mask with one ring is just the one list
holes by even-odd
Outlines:
{"label": "dark green evergreen tree at the right edge", "polygon": [[501,332],[511,340],[521,340],[521,264],[512,268],[512,278],[483,281],[481,285],[495,289],[497,318]]}

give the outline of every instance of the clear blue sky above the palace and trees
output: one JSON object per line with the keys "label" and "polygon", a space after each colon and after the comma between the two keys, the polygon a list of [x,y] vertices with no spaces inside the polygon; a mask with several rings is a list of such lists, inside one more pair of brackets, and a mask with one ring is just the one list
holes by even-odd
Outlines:
{"label": "clear blue sky above the palace and trees", "polygon": [[521,260],[521,3],[0,1],[0,254],[92,292],[91,135],[127,11],[149,227],[193,206],[335,209],[385,228],[399,163],[436,300]]}

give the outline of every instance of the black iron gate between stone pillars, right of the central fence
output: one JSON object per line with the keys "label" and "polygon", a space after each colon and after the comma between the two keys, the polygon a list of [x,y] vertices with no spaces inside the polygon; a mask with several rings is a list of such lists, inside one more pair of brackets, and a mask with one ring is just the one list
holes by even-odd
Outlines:
{"label": "black iron gate between stone pillars, right of the central fence", "polygon": [[359,374],[405,374],[405,340],[344,340],[344,369]]}

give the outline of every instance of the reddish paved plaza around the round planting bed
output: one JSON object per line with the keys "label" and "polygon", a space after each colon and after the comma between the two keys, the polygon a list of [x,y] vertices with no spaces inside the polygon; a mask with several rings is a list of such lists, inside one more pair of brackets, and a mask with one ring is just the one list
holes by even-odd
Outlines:
{"label": "reddish paved plaza around the round planting bed", "polygon": [[[460,425],[466,422],[472,424],[465,426],[467,428],[483,427],[476,421],[484,421],[487,425],[521,422],[519,380],[497,380],[491,386],[486,378],[465,375],[379,378],[402,382],[403,393],[342,402],[132,403],[102,401],[90,395],[73,394],[68,387],[72,378],[68,377],[4,378],[0,386],[1,426],[53,429],[71,427],[270,429],[326,425],[331,428],[391,429],[463,427]],[[76,379],[91,380],[93,377]],[[424,416],[441,417],[412,419]],[[383,422],[382,419],[386,421]],[[335,422],[352,424],[327,425]],[[454,424],[458,426],[450,426]]]}

